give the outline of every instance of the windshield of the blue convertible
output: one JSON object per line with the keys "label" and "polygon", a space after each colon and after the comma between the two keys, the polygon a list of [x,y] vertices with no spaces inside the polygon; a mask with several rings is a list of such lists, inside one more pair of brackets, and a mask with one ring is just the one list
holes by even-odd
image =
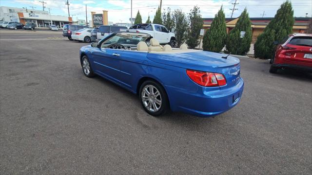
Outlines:
{"label": "windshield of the blue convertible", "polygon": [[149,37],[146,34],[118,33],[104,41],[102,47],[106,47],[109,44],[137,45],[138,42],[145,41]]}

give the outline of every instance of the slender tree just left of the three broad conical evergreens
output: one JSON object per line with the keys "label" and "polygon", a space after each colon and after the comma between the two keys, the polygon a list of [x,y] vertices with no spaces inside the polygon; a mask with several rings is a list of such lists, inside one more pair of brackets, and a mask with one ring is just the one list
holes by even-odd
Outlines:
{"label": "slender tree just left of the three broad conical evergreens", "polygon": [[199,7],[194,6],[194,8],[190,11],[188,18],[190,28],[187,33],[186,43],[191,49],[194,49],[199,44],[198,38],[200,29],[203,27],[203,19],[201,18]]}

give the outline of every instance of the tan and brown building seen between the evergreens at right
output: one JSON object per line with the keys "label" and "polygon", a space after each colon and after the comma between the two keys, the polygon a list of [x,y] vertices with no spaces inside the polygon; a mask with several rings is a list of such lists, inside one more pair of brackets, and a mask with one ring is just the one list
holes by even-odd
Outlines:
{"label": "tan and brown building seen between the evergreens at right", "polygon": [[[273,18],[250,18],[251,27],[253,30],[253,42],[256,41],[258,35],[262,34],[265,27]],[[305,33],[308,29],[309,20],[311,18],[294,18],[294,24],[292,26],[293,33]],[[205,30],[209,29],[214,18],[203,18],[204,24],[203,28]],[[229,33],[236,25],[238,18],[225,18],[225,23],[227,27],[227,33]]]}

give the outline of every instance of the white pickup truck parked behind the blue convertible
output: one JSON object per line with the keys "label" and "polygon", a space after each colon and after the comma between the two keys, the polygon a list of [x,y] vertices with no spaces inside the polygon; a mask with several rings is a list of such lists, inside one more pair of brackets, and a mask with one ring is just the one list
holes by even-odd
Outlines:
{"label": "white pickup truck parked behind the blue convertible", "polygon": [[150,34],[156,38],[160,44],[169,44],[176,47],[176,35],[166,29],[165,26],[159,24],[136,24],[129,29],[136,29],[138,32]]}

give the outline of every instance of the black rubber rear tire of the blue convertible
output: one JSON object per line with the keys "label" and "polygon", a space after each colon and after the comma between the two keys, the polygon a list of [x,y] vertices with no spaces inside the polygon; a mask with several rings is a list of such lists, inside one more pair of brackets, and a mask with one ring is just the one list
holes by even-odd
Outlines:
{"label": "black rubber rear tire of the blue convertible", "polygon": [[[156,97],[152,97],[153,99],[156,99],[156,98],[157,98],[158,101],[159,101],[159,99],[160,99],[160,101],[161,101],[161,105],[158,106],[159,109],[156,110],[155,112],[149,110],[149,109],[148,109],[148,106],[145,106],[145,105],[148,105],[148,104],[151,103],[151,102],[150,102],[150,101],[149,101],[149,103],[147,103],[147,101],[143,102],[143,99],[142,99],[142,95],[143,95],[142,90],[143,90],[143,88],[145,88],[145,87],[147,87],[147,86],[149,86],[149,85],[152,85],[152,86],[154,87],[154,91],[158,90],[158,92],[159,92],[159,94],[160,94],[160,95],[158,95],[158,96],[156,96]],[[156,90],[155,90],[155,88],[156,88]],[[144,94],[144,95],[146,95],[146,94]],[[159,96],[160,96],[160,98],[159,98]],[[144,109],[147,113],[149,113],[150,115],[152,115],[152,116],[155,116],[155,117],[156,117],[156,116],[160,116],[160,115],[166,113],[166,112],[168,111],[168,109],[169,109],[169,100],[168,100],[167,93],[166,93],[165,89],[164,89],[159,83],[157,83],[156,81],[147,80],[147,81],[143,82],[142,85],[140,86],[139,98],[140,98],[140,102],[141,102],[141,105],[142,105],[143,109]],[[147,97],[146,97],[146,98],[147,98]],[[146,103],[146,104],[145,104],[145,103]],[[156,104],[156,103],[155,103],[155,104]],[[157,104],[157,105],[158,105],[158,104]]]}

